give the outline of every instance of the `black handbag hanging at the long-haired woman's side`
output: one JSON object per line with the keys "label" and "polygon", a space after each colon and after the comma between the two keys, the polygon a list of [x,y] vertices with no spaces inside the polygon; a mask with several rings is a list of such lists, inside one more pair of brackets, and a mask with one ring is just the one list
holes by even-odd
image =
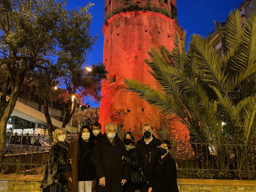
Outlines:
{"label": "black handbag hanging at the long-haired woman's side", "polygon": [[129,179],[127,183],[132,185],[140,185],[146,181],[144,173],[141,169],[141,165],[139,169],[133,169],[129,166]]}

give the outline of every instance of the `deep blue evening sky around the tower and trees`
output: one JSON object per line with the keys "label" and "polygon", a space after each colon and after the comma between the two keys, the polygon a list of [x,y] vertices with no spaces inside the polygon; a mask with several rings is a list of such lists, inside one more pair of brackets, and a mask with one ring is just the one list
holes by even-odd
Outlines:
{"label": "deep blue evening sky around the tower and trees", "polygon": [[[67,8],[76,9],[86,3],[95,3],[89,9],[93,16],[90,34],[97,34],[97,42],[93,50],[88,55],[88,65],[101,63],[103,56],[102,26],[104,24],[104,1],[105,0],[67,0]],[[187,30],[186,41],[190,40],[191,34],[206,36],[214,30],[213,20],[224,21],[229,12],[234,11],[243,0],[176,0],[178,12],[178,24]],[[186,45],[187,46],[187,45]],[[186,48],[187,49],[187,48]],[[91,102],[89,99],[85,103],[90,103],[91,107],[99,107],[99,104]]]}

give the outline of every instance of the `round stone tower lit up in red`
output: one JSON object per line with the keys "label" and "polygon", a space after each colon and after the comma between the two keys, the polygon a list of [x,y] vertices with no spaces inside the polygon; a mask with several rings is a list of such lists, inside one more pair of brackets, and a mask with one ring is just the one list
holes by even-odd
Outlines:
{"label": "round stone tower lit up in red", "polygon": [[[124,90],[124,78],[132,78],[157,88],[158,83],[144,62],[147,50],[164,44],[172,48],[174,35],[182,37],[177,22],[175,0],[105,0],[105,24],[103,26],[103,62],[109,78],[102,82],[100,123],[110,119],[120,121],[134,130],[140,123],[160,127],[158,111],[139,99],[135,93]],[[115,114],[115,112],[117,114]],[[125,113],[125,114],[123,114]],[[127,114],[126,114],[127,113]],[[112,114],[112,115],[111,115]],[[113,119],[114,118],[114,119]]]}

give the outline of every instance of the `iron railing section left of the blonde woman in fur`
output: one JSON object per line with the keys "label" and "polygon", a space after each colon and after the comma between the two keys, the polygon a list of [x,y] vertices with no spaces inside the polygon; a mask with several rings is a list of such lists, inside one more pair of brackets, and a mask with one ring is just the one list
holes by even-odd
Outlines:
{"label": "iron railing section left of the blonde woman in fur", "polygon": [[4,173],[23,172],[23,175],[33,171],[43,173],[49,149],[49,137],[45,131],[41,135],[24,130],[20,133],[7,132],[1,170]]}

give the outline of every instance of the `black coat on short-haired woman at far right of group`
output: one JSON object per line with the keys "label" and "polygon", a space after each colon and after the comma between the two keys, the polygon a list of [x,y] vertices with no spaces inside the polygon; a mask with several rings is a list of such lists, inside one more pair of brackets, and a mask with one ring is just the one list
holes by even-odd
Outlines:
{"label": "black coat on short-haired woman at far right of group", "polygon": [[169,153],[156,166],[156,180],[152,192],[179,192],[176,163]]}

